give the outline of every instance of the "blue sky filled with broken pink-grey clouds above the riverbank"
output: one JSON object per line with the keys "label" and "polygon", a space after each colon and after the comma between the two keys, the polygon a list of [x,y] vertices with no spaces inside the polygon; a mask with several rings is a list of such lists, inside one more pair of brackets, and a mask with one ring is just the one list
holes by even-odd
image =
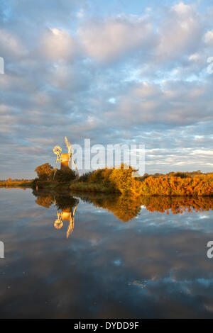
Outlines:
{"label": "blue sky filled with broken pink-grey clouds above the riverbank", "polygon": [[207,0],[1,0],[0,179],[55,166],[65,135],[213,171],[212,22]]}

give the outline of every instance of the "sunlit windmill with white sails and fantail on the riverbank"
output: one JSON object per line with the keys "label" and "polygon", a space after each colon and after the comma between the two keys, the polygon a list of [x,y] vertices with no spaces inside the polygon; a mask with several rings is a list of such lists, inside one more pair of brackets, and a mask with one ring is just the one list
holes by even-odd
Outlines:
{"label": "sunlit windmill with white sails and fantail on the riverbank", "polygon": [[[55,164],[56,164],[56,168],[58,166],[58,162],[60,162],[60,169],[61,170],[66,170],[66,169],[71,169],[72,168],[72,163],[73,165],[75,166],[75,171],[76,171],[76,174],[77,174],[77,177],[79,176],[79,173],[78,173],[78,170],[77,170],[77,165],[75,164],[75,161],[73,159],[73,152],[72,152],[72,145],[71,143],[67,140],[67,137],[65,137],[65,144],[67,146],[67,149],[68,149],[68,154],[62,154],[62,149],[60,146],[55,146],[53,148],[53,152],[54,154],[57,155],[56,157],[56,161],[55,161]],[[69,166],[69,162],[71,160],[71,167]],[[57,171],[57,169],[55,169],[55,172]],[[54,177],[53,179],[55,178],[55,174],[54,174]]]}

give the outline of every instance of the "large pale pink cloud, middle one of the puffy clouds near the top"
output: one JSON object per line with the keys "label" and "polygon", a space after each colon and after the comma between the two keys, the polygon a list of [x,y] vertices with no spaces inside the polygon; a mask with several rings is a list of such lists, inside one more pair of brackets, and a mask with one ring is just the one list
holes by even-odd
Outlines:
{"label": "large pale pink cloud, middle one of the puffy clouds near the top", "polygon": [[127,17],[92,20],[81,26],[78,34],[87,55],[101,62],[116,60],[138,47],[145,50],[155,40],[151,23]]}

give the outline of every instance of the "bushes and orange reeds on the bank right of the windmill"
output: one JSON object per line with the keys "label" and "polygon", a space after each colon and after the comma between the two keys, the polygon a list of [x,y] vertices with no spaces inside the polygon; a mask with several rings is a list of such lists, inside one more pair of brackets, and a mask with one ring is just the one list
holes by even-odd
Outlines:
{"label": "bushes and orange reeds on the bank right of the windmill", "polygon": [[71,184],[76,191],[103,191],[131,194],[131,196],[212,196],[213,174],[170,173],[155,174],[134,178],[131,167],[125,169],[98,169],[80,177],[79,181]]}

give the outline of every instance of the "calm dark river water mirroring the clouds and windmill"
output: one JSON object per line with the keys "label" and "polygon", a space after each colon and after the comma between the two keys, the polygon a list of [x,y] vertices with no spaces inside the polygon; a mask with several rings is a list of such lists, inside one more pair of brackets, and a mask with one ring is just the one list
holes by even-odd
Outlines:
{"label": "calm dark river water mirroring the clouds and windmill", "polygon": [[1,188],[0,317],[213,317],[212,202]]}

